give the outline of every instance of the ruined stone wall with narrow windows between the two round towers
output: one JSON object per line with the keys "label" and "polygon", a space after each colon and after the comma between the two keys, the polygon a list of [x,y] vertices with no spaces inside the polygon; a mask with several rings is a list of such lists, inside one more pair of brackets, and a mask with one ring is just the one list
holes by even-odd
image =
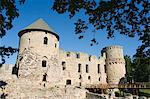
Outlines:
{"label": "ruined stone wall with narrow windows between the two round towers", "polygon": [[75,86],[106,84],[105,58],[97,58],[81,52],[66,52],[64,50],[60,50],[59,54],[64,84],[67,80],[71,80],[72,85]]}

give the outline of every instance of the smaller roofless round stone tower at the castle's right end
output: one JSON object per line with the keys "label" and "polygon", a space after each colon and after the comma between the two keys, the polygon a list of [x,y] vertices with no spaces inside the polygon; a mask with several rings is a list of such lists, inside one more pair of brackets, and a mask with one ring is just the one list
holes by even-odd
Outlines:
{"label": "smaller roofless round stone tower at the castle's right end", "polygon": [[106,52],[106,73],[109,84],[118,84],[125,76],[125,60],[121,46],[109,46]]}

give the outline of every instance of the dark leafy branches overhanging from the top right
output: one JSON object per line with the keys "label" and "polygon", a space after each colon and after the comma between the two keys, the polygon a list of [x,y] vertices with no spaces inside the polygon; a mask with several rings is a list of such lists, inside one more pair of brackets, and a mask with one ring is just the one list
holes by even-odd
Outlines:
{"label": "dark leafy branches overhanging from the top right", "polygon": [[[139,36],[144,45],[149,44],[150,16],[149,0],[55,0],[52,9],[59,14],[69,13],[72,18],[82,11],[88,19],[75,22],[75,33],[83,38],[85,30],[106,29],[108,38],[118,31],[129,37]],[[91,40],[97,44],[95,37]]]}

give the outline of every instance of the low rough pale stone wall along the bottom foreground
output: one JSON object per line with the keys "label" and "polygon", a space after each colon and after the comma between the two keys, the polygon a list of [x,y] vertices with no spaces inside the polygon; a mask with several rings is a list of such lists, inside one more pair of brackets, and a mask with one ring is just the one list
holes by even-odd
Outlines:
{"label": "low rough pale stone wall along the bottom foreground", "polygon": [[[85,99],[85,89],[73,86],[43,87],[36,84],[20,85],[16,82],[5,89],[6,99]],[[15,91],[14,91],[15,89]]]}

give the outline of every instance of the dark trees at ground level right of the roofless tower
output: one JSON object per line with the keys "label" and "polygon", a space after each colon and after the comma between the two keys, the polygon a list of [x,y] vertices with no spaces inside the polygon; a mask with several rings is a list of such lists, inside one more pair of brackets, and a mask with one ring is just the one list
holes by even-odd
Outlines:
{"label": "dark trees at ground level right of the roofless tower", "polygon": [[150,76],[150,54],[147,52],[143,52],[141,48],[138,48],[133,59],[127,55],[125,56],[128,81],[132,77],[136,82],[148,82]]}

